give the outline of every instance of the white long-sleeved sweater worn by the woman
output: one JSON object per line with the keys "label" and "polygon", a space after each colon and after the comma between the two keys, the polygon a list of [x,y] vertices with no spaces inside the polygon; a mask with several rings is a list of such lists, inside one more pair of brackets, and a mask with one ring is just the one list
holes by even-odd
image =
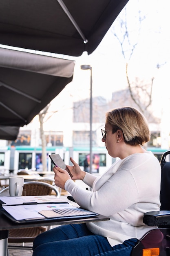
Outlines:
{"label": "white long-sleeved sweater worn by the woman", "polygon": [[93,191],[82,189],[73,180],[66,181],[65,189],[82,208],[110,218],[87,226],[94,234],[107,237],[111,246],[140,239],[157,228],[143,223],[145,212],[160,207],[161,167],[150,151],[117,160],[101,177],[86,173],[83,181]]}

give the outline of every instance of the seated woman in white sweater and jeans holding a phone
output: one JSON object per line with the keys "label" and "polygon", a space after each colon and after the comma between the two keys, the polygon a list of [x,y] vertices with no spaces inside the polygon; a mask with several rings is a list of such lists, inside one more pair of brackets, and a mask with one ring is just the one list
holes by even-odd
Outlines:
{"label": "seated woman in white sweater and jeans holding a phone", "polygon": [[[80,169],[71,158],[72,173],[55,166],[55,184],[66,189],[82,208],[110,220],[62,225],[35,238],[33,256],[130,256],[137,241],[151,228],[143,223],[147,211],[159,211],[161,167],[157,158],[141,146],[149,141],[144,116],[131,107],[106,114],[102,141],[108,154],[119,157],[101,177]],[[83,180],[87,191],[73,180]],[[156,227],[155,227],[156,228]]]}

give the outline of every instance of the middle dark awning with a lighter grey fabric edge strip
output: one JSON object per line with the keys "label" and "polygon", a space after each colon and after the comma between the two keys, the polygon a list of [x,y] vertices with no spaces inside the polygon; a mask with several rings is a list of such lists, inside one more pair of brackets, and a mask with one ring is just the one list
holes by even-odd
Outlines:
{"label": "middle dark awning with a lighter grey fabric edge strip", "polygon": [[0,48],[0,125],[24,126],[72,81],[75,61]]}

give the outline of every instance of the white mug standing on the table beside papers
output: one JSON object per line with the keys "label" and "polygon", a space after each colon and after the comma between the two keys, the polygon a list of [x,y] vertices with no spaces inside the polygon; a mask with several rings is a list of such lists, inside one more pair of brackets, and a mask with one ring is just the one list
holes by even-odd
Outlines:
{"label": "white mug standing on the table beside papers", "polygon": [[23,177],[9,177],[9,195],[21,196],[24,187]]}

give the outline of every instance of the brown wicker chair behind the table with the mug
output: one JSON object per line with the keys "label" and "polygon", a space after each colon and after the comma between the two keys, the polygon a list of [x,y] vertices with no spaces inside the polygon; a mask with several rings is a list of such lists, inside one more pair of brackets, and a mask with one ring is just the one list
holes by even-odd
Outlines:
{"label": "brown wicker chair behind the table with the mug", "polygon": [[[0,191],[0,195],[9,191],[9,187],[6,187]],[[51,195],[51,192],[55,192],[56,198],[60,197],[59,191],[51,184],[45,182],[29,181],[24,182],[24,188],[22,195]],[[32,249],[31,246],[24,246],[24,243],[33,242],[36,236],[46,231],[46,227],[30,227],[23,229],[10,229],[9,231],[9,243],[22,243],[22,246],[8,245],[8,249]]]}

